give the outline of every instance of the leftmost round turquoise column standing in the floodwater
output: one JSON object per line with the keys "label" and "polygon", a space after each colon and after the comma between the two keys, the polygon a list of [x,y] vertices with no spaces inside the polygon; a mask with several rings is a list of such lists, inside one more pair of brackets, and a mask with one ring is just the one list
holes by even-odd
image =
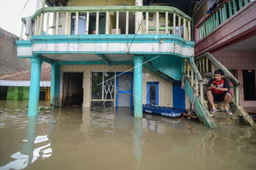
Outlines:
{"label": "leftmost round turquoise column standing in the floodwater", "polygon": [[42,58],[30,58],[31,61],[31,78],[28,99],[28,116],[38,115],[38,102],[40,91],[40,74]]}

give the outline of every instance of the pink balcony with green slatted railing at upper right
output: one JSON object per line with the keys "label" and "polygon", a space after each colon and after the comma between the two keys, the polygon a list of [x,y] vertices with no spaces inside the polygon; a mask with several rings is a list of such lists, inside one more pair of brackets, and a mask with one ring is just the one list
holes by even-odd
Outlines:
{"label": "pink balcony with green slatted railing at upper right", "polygon": [[[219,1],[195,24],[195,55],[215,52],[256,35],[256,1]],[[252,47],[254,48],[254,47]]]}

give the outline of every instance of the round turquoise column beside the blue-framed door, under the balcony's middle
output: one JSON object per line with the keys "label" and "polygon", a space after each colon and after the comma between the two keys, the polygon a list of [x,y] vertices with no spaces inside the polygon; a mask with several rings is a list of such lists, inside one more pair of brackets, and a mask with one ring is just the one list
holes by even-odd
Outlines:
{"label": "round turquoise column beside the blue-framed door, under the balcony's middle", "polygon": [[134,63],[134,117],[142,117],[142,63],[143,56],[133,56]]}

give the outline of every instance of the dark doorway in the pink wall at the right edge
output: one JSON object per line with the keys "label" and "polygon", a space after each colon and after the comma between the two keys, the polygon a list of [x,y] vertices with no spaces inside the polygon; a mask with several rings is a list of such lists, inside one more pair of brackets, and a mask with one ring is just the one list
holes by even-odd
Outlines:
{"label": "dark doorway in the pink wall at the right edge", "polygon": [[256,100],[255,70],[243,70],[244,101]]}

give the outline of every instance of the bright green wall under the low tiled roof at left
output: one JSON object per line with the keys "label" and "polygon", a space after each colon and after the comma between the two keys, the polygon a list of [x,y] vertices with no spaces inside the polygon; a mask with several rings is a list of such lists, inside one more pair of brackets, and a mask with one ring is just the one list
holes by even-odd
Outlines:
{"label": "bright green wall under the low tiled roof at left", "polygon": [[29,87],[9,86],[6,99],[28,99]]}

